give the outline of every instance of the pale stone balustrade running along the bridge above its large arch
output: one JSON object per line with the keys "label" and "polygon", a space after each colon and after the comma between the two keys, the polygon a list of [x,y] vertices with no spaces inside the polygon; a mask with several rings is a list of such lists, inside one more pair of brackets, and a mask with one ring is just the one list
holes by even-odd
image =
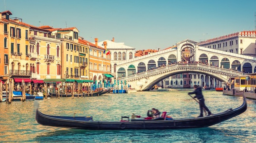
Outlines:
{"label": "pale stone balustrade running along the bridge above its large arch", "polygon": [[233,74],[233,75],[246,75],[246,73],[242,73],[242,72],[238,72],[238,71],[234,71],[234,70],[229,70],[229,69],[225,69],[225,68],[220,68],[220,67],[216,67],[216,66],[204,65],[204,64],[201,64],[201,63],[177,63],[177,64],[173,64],[173,65],[164,66],[162,68],[157,68],[157,69],[154,69],[154,70],[149,70],[149,71],[146,71],[146,72],[137,73],[135,75],[130,75],[128,77],[118,78],[118,80],[119,81],[129,80],[129,79],[142,77],[142,76],[145,76],[145,75],[149,75],[149,74],[153,74],[153,73],[157,73],[157,72],[161,72],[161,71],[165,71],[165,70],[169,70],[169,69],[173,69],[173,68],[179,68],[179,67],[201,67],[201,68],[206,68],[206,69],[210,69],[210,70],[214,70],[214,71],[230,73],[230,74]]}

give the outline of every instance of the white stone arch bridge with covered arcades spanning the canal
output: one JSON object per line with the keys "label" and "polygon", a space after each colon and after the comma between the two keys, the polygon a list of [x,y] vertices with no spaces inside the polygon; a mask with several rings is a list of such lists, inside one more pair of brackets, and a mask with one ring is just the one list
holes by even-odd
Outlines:
{"label": "white stone arch bridge with covered arcades spanning the canal", "polygon": [[228,77],[256,73],[256,58],[198,46],[192,40],[176,47],[131,59],[116,66],[119,82],[136,90],[149,90],[161,80],[179,73],[202,73],[221,82]]}

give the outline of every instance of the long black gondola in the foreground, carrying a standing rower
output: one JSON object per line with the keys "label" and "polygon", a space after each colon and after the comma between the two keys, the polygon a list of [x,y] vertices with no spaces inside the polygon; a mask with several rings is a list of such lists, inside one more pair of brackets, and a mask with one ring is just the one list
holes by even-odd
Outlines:
{"label": "long black gondola in the foreground, carrying a standing rower", "polygon": [[87,129],[87,130],[119,130],[119,129],[182,129],[182,128],[202,128],[221,123],[232,117],[242,114],[247,109],[246,98],[243,104],[236,109],[213,114],[212,116],[164,120],[159,117],[152,120],[128,119],[128,121],[93,121],[91,117],[68,117],[50,116],[43,114],[36,109],[36,121],[45,126],[61,128]]}

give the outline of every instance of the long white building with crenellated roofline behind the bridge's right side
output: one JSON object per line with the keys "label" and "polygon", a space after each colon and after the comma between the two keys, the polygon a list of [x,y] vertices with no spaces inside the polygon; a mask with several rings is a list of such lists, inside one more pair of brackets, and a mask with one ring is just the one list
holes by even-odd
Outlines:
{"label": "long white building with crenellated roofline behind the bridge's right side", "polygon": [[256,31],[242,31],[201,41],[199,46],[236,54],[256,55]]}

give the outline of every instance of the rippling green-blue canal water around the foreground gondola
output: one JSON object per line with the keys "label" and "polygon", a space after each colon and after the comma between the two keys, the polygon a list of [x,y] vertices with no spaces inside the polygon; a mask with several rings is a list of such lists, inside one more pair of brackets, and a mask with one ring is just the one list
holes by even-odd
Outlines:
{"label": "rippling green-blue canal water around the foreground gondola", "polygon": [[[191,90],[190,90],[191,91]],[[167,111],[173,118],[196,117],[198,104],[189,90],[149,91],[133,94],[107,94],[100,97],[61,98],[39,101],[45,114],[91,116],[94,120],[119,121],[132,113],[146,116],[151,108]],[[204,91],[206,105],[213,113],[236,108],[242,97]],[[0,103],[0,142],[86,142],[86,143],[223,143],[256,142],[256,101],[247,100],[243,114],[208,128],[89,131],[42,126],[35,121],[34,101]]]}

